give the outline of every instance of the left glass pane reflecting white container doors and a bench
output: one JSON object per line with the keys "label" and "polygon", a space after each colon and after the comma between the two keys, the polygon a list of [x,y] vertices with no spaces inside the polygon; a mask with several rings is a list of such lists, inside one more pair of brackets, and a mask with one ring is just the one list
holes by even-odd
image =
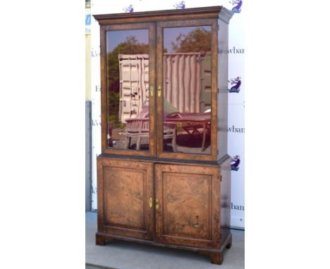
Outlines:
{"label": "left glass pane reflecting white container doors and a bench", "polygon": [[149,30],[106,32],[108,147],[149,150]]}

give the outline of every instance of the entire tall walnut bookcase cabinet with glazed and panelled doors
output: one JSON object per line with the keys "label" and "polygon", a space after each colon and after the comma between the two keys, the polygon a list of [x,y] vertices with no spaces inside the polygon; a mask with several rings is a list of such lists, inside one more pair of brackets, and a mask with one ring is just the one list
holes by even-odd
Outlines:
{"label": "entire tall walnut bookcase cabinet with glazed and panelled doors", "polygon": [[222,6],[94,15],[102,154],[96,244],[231,247],[228,23]]}

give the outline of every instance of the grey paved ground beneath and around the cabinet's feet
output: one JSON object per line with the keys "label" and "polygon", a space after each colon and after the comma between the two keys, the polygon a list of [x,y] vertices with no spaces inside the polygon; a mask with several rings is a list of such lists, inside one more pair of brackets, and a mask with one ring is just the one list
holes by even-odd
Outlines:
{"label": "grey paved ground beneath and around the cabinet's feet", "polygon": [[192,251],[147,246],[133,242],[109,242],[95,245],[97,213],[86,213],[85,269],[243,269],[244,232],[232,230],[233,246],[224,252],[224,263],[214,265],[209,257]]}

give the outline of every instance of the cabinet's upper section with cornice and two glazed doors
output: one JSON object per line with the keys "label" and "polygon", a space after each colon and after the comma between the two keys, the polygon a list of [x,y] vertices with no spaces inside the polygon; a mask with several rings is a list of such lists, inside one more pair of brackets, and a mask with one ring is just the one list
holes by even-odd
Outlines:
{"label": "cabinet's upper section with cornice and two glazed doors", "polygon": [[196,161],[226,155],[231,15],[221,6],[94,15],[102,153]]}

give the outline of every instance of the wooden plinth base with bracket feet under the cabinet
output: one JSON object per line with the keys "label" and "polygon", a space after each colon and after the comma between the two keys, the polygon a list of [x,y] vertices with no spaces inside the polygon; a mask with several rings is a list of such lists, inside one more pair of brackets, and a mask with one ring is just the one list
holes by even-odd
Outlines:
{"label": "wooden plinth base with bracket feet under the cabinet", "polygon": [[106,245],[106,240],[120,240],[120,241],[129,241],[129,242],[137,242],[139,244],[149,244],[153,246],[164,246],[164,247],[169,247],[172,249],[184,249],[188,251],[195,251],[200,255],[204,256],[209,256],[211,263],[214,264],[222,264],[224,261],[224,255],[223,252],[224,250],[230,249],[231,244],[232,244],[232,236],[231,233],[228,234],[228,237],[226,240],[224,240],[224,243],[221,245],[220,249],[203,249],[203,248],[198,248],[195,246],[182,246],[182,245],[175,245],[175,244],[164,244],[164,243],[159,243],[159,242],[154,242],[154,241],[148,241],[148,240],[143,240],[143,239],[135,239],[132,237],[123,237],[121,235],[117,234],[104,234],[102,232],[97,232],[95,234],[96,237],[96,244],[99,246],[104,246]]}

